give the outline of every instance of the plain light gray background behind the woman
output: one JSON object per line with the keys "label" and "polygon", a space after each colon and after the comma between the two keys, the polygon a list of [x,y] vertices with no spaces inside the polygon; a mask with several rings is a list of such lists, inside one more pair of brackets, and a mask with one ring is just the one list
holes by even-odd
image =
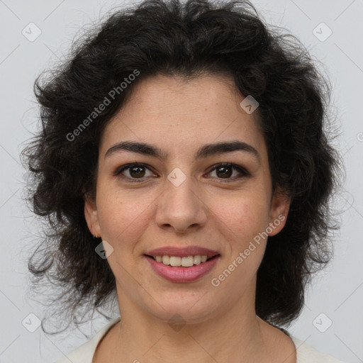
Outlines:
{"label": "plain light gray background behind the woman", "polygon": [[[336,145],[344,155],[347,169],[345,191],[336,199],[336,206],[343,213],[342,228],[335,236],[335,258],[315,278],[303,314],[289,330],[338,359],[363,362],[363,1],[252,0],[252,3],[268,23],[283,26],[296,35],[328,74],[333,85],[332,104],[342,132]],[[62,357],[62,352],[67,353],[86,341],[79,332],[47,336],[40,328],[30,333],[22,325],[24,319],[34,324],[34,318],[29,320],[28,314],[41,317],[43,307],[27,294],[26,261],[40,225],[34,223],[22,200],[25,172],[19,152],[23,142],[36,130],[38,121],[33,96],[35,77],[67,55],[79,28],[122,4],[125,3],[96,0],[0,1],[0,362],[52,363]],[[22,34],[30,22],[42,32],[33,42]],[[313,34],[321,22],[333,31],[325,41]],[[327,34],[327,28],[317,29],[320,38]],[[321,333],[316,327],[323,330],[328,319],[333,324]],[[104,324],[105,320],[97,317],[93,325],[84,325],[83,331],[93,335]]]}

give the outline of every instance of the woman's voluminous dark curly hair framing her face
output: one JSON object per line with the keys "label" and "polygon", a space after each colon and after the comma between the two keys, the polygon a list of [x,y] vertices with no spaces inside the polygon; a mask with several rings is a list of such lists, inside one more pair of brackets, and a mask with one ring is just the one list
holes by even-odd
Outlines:
{"label": "woman's voluminous dark curly hair framing her face", "polygon": [[[67,61],[35,81],[42,128],[22,160],[31,177],[27,199],[47,228],[28,262],[34,289],[47,278],[60,289],[50,305],[77,324],[86,303],[99,311],[114,297],[113,272],[95,253],[101,240],[84,217],[105,126],[147,77],[226,75],[258,101],[273,191],[279,186],[291,198],[286,225],[269,238],[257,272],[255,303],[263,320],[291,323],[312,274],[331,259],[330,232],[338,228],[330,196],[342,168],[324,130],[332,121],[329,83],[301,43],[267,26],[248,1],[146,0],[107,16],[73,43]],[[138,77],[120,91],[135,69]]]}

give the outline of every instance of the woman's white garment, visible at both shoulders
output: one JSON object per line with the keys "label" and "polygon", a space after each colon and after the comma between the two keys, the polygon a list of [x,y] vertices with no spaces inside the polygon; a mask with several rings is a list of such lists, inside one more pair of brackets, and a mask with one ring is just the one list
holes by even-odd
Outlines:
{"label": "woman's white garment, visible at both shoulders", "polygon": [[[96,352],[96,347],[101,341],[102,337],[106,335],[108,330],[120,321],[120,317],[111,320],[104,328],[102,328],[99,333],[94,335],[88,342],[78,347],[76,350],[70,352],[67,357],[63,357],[55,363],[92,363],[94,357],[94,352]],[[331,357],[328,354],[323,354],[315,350],[310,345],[306,345],[301,340],[296,337],[291,337],[296,347],[296,363],[344,363]]]}

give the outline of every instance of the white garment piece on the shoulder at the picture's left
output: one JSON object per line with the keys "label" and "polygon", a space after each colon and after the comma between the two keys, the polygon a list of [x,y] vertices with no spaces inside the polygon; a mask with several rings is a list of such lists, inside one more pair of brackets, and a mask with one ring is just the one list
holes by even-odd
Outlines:
{"label": "white garment piece on the shoulder at the picture's left", "polygon": [[62,359],[58,360],[55,363],[92,363],[92,359],[94,357],[94,352],[96,351],[97,345],[101,342],[101,339],[106,335],[108,330],[120,321],[120,317],[111,320],[104,328],[99,330],[94,337],[91,338],[88,342],[85,342],[83,345],[73,350],[72,352],[62,357]]}

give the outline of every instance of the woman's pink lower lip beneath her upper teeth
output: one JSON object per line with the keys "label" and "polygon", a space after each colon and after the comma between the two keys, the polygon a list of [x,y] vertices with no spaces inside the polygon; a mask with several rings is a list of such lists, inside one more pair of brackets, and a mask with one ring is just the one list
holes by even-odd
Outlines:
{"label": "woman's pink lower lip beneath her upper teeth", "polygon": [[151,264],[152,269],[164,279],[172,282],[192,282],[200,279],[213,269],[218,262],[220,256],[216,256],[206,262],[194,264],[191,267],[173,267],[162,262],[157,262],[152,257],[147,257],[147,261]]}

